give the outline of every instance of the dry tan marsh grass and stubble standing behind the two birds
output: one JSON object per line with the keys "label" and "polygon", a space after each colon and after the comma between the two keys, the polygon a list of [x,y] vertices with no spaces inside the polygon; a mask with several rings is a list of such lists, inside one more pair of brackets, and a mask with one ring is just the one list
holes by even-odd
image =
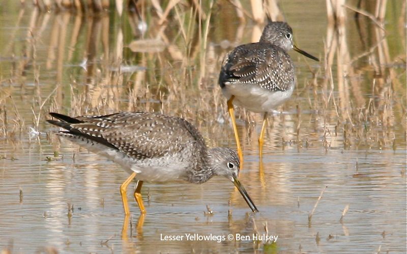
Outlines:
{"label": "dry tan marsh grass and stubble standing behind the two birds", "polygon": [[[240,20],[246,21],[243,18],[246,17],[259,21],[264,20],[268,8],[253,7],[263,13],[250,14],[239,1],[192,3],[170,1],[160,10],[155,1],[142,2],[133,7],[137,11],[131,9],[123,14],[129,20],[126,25],[106,13],[80,16],[60,12],[50,17],[37,8],[22,9],[31,14],[26,41],[20,51],[16,47],[21,45],[12,42],[6,49],[26,57],[15,57],[11,73],[2,73],[0,135],[14,137],[26,132],[29,126],[39,131],[49,111],[80,115],[133,110],[181,116],[203,128],[208,136],[224,134],[217,131],[219,122],[227,123],[229,119],[217,75],[227,51],[244,43],[241,30],[245,26],[213,27],[214,15],[227,20],[213,11],[220,5],[231,4]],[[273,4],[270,1],[268,6]],[[283,106],[284,111],[291,112],[288,118],[295,124],[290,125],[285,114],[274,115],[269,123],[268,135],[283,133],[283,148],[286,141],[297,143],[300,149],[309,142],[318,143],[326,150],[332,145],[338,147],[338,140],[342,142],[339,147],[344,149],[392,149],[405,145],[405,66],[402,68],[405,55],[390,53],[387,32],[383,29],[383,8],[386,6],[377,6],[378,11],[368,15],[368,11],[362,12],[350,4],[327,7],[324,60],[321,65],[302,70],[309,71],[311,76],[299,79],[293,99]],[[348,27],[341,21],[350,15],[349,10],[380,22],[369,26],[375,36],[365,43],[372,46],[353,55]],[[272,15],[283,17],[281,13]],[[360,17],[356,21],[366,19]],[[109,28],[112,25],[114,29]],[[51,26],[50,33],[44,33],[47,26]],[[253,28],[254,34],[257,27],[256,24]],[[236,29],[236,41],[217,44],[218,38],[211,36],[218,29]],[[45,59],[38,56],[38,47],[44,43],[48,44]],[[402,50],[405,52],[405,48]],[[75,62],[76,66],[64,72],[66,62]],[[56,71],[55,82],[43,88],[42,80],[50,82],[43,75],[49,75],[46,72],[51,69]],[[34,88],[28,88],[27,83],[33,79]],[[15,105],[14,94],[18,89],[15,84],[32,90],[31,116],[21,115]],[[251,123],[258,118],[244,109],[238,108],[237,113],[248,127],[242,131],[248,131],[244,136],[250,142],[250,138],[255,139],[252,135],[256,135]]]}

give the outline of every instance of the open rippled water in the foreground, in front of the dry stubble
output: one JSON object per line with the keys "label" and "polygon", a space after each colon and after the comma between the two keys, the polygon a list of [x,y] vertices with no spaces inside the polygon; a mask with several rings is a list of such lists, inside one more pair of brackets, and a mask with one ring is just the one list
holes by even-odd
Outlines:
{"label": "open rippled water in the foreground, in front of the dry stubble", "polygon": [[[251,241],[160,244],[160,239],[161,234],[252,235],[254,222],[262,232],[267,221],[269,234],[278,235],[281,251],[298,251],[300,246],[306,252],[373,252],[381,245],[391,252],[404,249],[403,151],[275,151],[264,158],[265,172],[261,175],[256,156],[247,156],[241,179],[260,210],[257,214],[248,213],[240,194],[222,178],[202,185],[145,184],[143,195],[151,195],[151,199],[146,202],[148,214],[142,232],[133,229],[133,237],[122,241],[119,185],[126,174],[117,165],[100,162],[86,152],[73,161],[70,146],[61,151],[64,160],[46,162],[38,154],[16,154],[18,160],[3,160],[2,244],[11,241],[17,252],[48,245],[79,252],[107,251],[108,246],[116,251],[244,251],[252,250]],[[38,145],[32,145],[33,150],[36,148]],[[308,214],[325,186],[309,225]],[[23,190],[21,202],[19,187]],[[67,203],[74,206],[71,218]],[[204,214],[206,205],[213,209],[213,215]],[[350,209],[340,223],[346,205]],[[136,225],[135,202],[130,209]],[[232,210],[230,219],[228,209]],[[319,243],[315,242],[317,233]],[[333,238],[328,239],[329,235]],[[108,239],[108,246],[100,244]]]}

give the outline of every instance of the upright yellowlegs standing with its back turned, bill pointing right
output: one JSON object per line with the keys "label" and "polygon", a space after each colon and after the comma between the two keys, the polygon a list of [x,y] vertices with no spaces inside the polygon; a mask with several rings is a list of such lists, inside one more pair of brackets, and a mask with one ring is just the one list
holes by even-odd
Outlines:
{"label": "upright yellowlegs standing with its back turned, bill pointing right", "polygon": [[264,113],[258,139],[261,157],[267,114],[292,95],[296,83],[293,60],[287,54],[290,49],[319,61],[294,45],[293,29],[287,23],[271,21],[264,28],[259,42],[240,45],[223,59],[219,85],[227,98],[240,161],[243,153],[233,105]]}

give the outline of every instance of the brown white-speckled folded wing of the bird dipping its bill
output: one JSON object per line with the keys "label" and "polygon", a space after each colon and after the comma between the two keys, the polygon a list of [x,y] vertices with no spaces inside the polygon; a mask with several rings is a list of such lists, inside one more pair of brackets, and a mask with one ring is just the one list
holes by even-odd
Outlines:
{"label": "brown white-speckled folded wing of the bird dipping its bill", "polygon": [[77,123],[49,122],[58,126],[68,125],[68,128],[63,128],[71,134],[92,137],[94,141],[114,146],[138,160],[178,154],[197,141],[205,144],[202,136],[188,121],[158,113],[124,112],[73,119]]}

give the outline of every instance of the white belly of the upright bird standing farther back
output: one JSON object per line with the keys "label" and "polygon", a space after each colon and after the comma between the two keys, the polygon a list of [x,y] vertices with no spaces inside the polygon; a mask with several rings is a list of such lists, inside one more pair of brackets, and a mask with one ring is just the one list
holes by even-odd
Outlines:
{"label": "white belly of the upright bird standing farther back", "polygon": [[226,84],[222,88],[224,96],[229,100],[233,95],[233,104],[244,107],[255,113],[271,112],[291,97],[294,86],[286,91],[270,91],[251,84]]}

